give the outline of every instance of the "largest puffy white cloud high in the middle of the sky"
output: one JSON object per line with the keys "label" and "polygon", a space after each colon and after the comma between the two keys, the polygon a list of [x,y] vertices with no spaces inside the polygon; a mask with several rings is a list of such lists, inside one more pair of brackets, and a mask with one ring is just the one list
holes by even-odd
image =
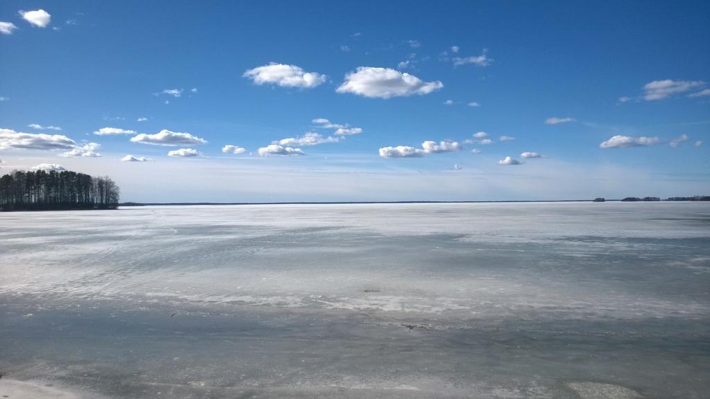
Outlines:
{"label": "largest puffy white cloud high in the middle of the sky", "polygon": [[364,97],[388,99],[435,92],[444,87],[438,80],[422,82],[418,77],[389,68],[358,67],[345,75],[338,93],[352,93]]}

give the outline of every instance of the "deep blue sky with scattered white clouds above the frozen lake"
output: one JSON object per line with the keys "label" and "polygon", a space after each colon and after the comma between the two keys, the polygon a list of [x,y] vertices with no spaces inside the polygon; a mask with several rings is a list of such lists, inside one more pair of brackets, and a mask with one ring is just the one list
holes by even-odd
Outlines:
{"label": "deep blue sky with scattered white clouds above the frozen lake", "polygon": [[0,22],[0,173],[156,202],[710,193],[704,1],[3,1]]}

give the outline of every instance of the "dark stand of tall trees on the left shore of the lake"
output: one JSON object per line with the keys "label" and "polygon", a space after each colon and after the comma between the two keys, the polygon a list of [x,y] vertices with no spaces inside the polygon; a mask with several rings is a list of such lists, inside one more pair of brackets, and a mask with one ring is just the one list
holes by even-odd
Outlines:
{"label": "dark stand of tall trees on the left shore of the lake", "polygon": [[119,186],[107,177],[63,170],[15,170],[0,177],[0,211],[116,209]]}

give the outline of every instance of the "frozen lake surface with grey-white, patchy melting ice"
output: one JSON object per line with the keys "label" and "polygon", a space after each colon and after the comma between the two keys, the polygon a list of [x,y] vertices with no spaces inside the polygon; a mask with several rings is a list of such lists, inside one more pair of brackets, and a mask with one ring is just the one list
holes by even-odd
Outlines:
{"label": "frozen lake surface with grey-white, patchy melting ice", "polygon": [[707,398],[710,204],[0,214],[0,373],[10,398]]}

